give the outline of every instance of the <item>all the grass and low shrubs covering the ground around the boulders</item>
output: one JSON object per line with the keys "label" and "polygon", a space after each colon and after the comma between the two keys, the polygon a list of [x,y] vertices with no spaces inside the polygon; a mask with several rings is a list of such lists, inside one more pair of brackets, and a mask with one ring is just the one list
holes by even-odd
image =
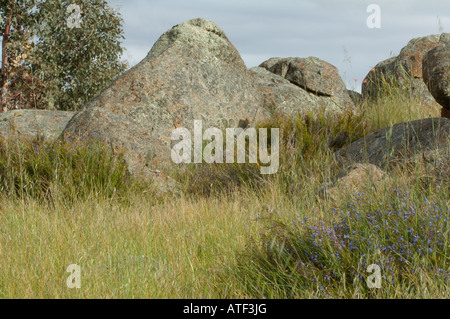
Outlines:
{"label": "all the grass and low shrubs covering the ground around the boulders", "polygon": [[[184,195],[130,176],[101,139],[2,142],[0,297],[448,297],[448,162],[439,174],[399,166],[359,195],[317,196],[340,170],[328,149],[337,134],[351,142],[439,114],[401,92],[360,111],[274,116],[260,125],[281,128],[278,174],[188,166],[176,176]],[[367,288],[372,263],[381,289]],[[66,286],[71,264],[81,289]]]}

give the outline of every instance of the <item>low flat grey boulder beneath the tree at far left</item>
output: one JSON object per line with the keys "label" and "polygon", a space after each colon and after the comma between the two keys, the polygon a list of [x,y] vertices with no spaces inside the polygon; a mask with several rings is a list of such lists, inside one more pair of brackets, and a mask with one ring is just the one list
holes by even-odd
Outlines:
{"label": "low flat grey boulder beneath the tree at far left", "polygon": [[0,114],[2,139],[33,139],[43,137],[56,140],[75,112],[47,110],[14,110]]}

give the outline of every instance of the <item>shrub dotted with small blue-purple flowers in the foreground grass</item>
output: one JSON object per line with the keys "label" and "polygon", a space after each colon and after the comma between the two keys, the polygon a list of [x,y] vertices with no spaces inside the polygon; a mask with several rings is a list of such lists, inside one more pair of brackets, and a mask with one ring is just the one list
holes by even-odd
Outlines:
{"label": "shrub dotted with small blue-purple flowers in the foreground grass", "polygon": [[[399,190],[382,200],[366,194],[353,199],[346,209],[334,209],[329,221],[270,219],[262,246],[251,253],[257,260],[253,275],[265,278],[266,293],[283,291],[293,298],[312,289],[318,297],[343,297],[345,289],[349,297],[392,297],[399,287],[418,292],[423,273],[434,289],[446,289],[448,203]],[[373,264],[381,269],[381,289],[367,286]]]}

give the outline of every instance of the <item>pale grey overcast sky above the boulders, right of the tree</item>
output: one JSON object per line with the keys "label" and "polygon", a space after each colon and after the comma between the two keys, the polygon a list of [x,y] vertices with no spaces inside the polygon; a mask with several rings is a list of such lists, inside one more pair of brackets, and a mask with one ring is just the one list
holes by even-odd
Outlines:
{"label": "pale grey overcast sky above the boulders, right of the tree", "polygon": [[[360,91],[378,62],[409,40],[450,32],[449,0],[109,0],[122,13],[125,58],[142,60],[158,38],[193,18],[216,22],[247,67],[271,57],[316,56],[335,65]],[[381,28],[369,29],[370,4],[381,8]],[[355,79],[357,80],[355,85]]]}

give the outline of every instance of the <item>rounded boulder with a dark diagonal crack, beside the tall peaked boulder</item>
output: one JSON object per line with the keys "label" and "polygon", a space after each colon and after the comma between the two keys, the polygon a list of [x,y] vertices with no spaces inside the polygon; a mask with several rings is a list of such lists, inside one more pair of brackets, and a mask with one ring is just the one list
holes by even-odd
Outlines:
{"label": "rounded boulder with a dark diagonal crack, beside the tall peaked boulder", "polygon": [[318,58],[272,58],[251,71],[266,104],[284,113],[355,109],[337,68]]}

